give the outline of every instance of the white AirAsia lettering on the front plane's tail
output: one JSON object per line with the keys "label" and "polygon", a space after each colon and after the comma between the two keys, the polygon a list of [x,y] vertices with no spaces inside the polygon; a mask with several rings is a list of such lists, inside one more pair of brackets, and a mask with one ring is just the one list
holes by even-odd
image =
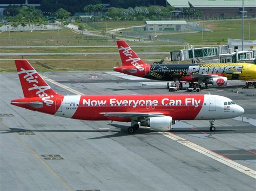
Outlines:
{"label": "white AirAsia lettering on the front plane's tail", "polygon": [[25,70],[23,68],[21,68],[21,71],[18,72],[18,74],[25,74],[23,76],[23,78],[28,81],[29,83],[33,83],[32,84],[32,87],[30,87],[28,90],[31,91],[31,90],[37,90],[36,91],[36,95],[38,95],[38,97],[40,97],[42,99],[42,101],[47,105],[47,106],[51,106],[53,104],[53,101],[52,100],[49,100],[50,98],[53,97],[53,95],[51,96],[48,96],[47,93],[45,93],[46,90],[49,90],[51,89],[50,86],[38,86],[38,81],[37,81],[37,78],[38,76],[37,75],[34,75],[34,74],[37,74],[36,70]]}

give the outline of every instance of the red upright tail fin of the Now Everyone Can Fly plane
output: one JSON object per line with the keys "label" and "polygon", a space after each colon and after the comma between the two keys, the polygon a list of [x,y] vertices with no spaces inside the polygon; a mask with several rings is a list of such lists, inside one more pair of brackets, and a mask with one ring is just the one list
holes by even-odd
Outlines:
{"label": "red upright tail fin of the Now Everyone Can Fly plane", "polygon": [[15,60],[15,65],[24,97],[45,97],[57,94],[27,60]]}

